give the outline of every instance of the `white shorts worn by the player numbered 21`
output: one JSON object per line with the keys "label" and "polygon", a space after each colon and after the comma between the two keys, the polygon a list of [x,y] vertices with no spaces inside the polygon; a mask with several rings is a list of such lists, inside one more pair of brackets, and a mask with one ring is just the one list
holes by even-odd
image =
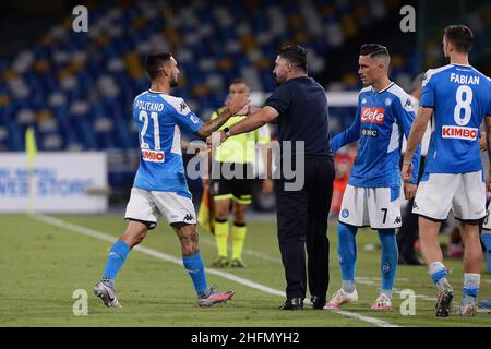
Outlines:
{"label": "white shorts worn by the player numbered 21", "polygon": [[196,224],[196,214],[191,198],[175,192],[131,189],[124,219],[141,221],[146,224],[148,229],[154,229],[163,216],[170,225]]}

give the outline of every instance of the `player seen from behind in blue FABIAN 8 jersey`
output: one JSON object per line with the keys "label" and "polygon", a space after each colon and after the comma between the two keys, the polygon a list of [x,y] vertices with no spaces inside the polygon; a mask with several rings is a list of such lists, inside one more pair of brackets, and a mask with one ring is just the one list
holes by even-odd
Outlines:
{"label": "player seen from behind in blue FABIAN 8 jersey", "polygon": [[476,315],[480,284],[479,221],[486,216],[487,189],[479,154],[479,127],[484,116],[488,130],[491,125],[491,82],[469,65],[472,41],[472,32],[464,25],[445,28],[443,52],[450,64],[430,69],[426,74],[402,171],[403,179],[408,180],[414,171],[410,158],[431,119],[424,174],[412,213],[419,215],[421,253],[439,289],[435,314],[443,317],[451,312],[454,290],[446,278],[438,233],[451,208],[460,221],[465,245],[460,315]]}

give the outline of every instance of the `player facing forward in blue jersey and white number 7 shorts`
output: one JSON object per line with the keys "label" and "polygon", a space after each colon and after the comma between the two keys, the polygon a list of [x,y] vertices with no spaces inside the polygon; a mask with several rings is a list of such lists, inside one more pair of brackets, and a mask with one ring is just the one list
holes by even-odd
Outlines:
{"label": "player facing forward in blue jersey and white number 7 shorts", "polygon": [[[343,285],[325,309],[338,309],[358,300],[355,287],[356,234],[360,227],[376,230],[382,244],[382,287],[371,309],[392,310],[392,292],[397,269],[395,228],[400,227],[399,159],[403,136],[409,135],[415,119],[411,98],[388,79],[390,55],[378,44],[362,45],[358,71],[363,85],[357,115],[346,131],[331,141],[333,152],[360,140],[355,165],[343,195],[339,212],[338,262]],[[419,151],[412,157],[419,166]],[[404,183],[407,198],[416,192],[418,171]]]}

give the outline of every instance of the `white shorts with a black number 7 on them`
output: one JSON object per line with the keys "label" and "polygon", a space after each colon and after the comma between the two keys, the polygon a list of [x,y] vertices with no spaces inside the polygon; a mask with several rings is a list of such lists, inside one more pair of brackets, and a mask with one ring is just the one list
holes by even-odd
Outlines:
{"label": "white shorts with a black number 7 on them", "polygon": [[399,228],[399,188],[361,188],[348,184],[343,195],[339,221],[372,229]]}

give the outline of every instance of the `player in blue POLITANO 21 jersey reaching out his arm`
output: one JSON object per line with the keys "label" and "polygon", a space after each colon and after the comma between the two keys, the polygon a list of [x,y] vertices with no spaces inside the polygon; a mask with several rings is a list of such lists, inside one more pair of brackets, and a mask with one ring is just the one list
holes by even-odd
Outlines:
{"label": "player in blue POLITANO 21 jersey reaching out his arm", "polygon": [[232,298],[233,291],[220,292],[206,282],[195,212],[182,163],[180,133],[183,129],[206,140],[249,103],[248,96],[233,96],[216,119],[203,123],[182,98],[169,95],[179,76],[177,61],[170,53],[149,55],[146,70],[152,86],[133,103],[141,156],[124,216],[129,224],[124,234],[112,245],[94,292],[107,306],[121,306],[115,290],[116,275],[131,249],[165,217],[181,241],[182,263],[197,293],[197,304],[225,303]]}

